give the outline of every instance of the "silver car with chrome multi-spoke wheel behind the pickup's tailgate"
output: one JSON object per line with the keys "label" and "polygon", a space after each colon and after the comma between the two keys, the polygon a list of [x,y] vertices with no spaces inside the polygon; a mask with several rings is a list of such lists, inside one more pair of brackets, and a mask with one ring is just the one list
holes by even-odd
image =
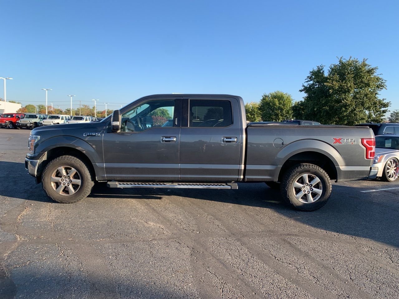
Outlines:
{"label": "silver car with chrome multi-spoke wheel behind the pickup's tailgate", "polygon": [[373,167],[378,167],[377,177],[393,182],[399,175],[399,135],[375,136]]}

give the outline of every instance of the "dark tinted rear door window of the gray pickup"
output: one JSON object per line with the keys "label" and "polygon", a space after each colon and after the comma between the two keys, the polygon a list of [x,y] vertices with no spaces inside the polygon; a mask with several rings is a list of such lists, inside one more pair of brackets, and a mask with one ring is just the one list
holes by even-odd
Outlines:
{"label": "dark tinted rear door window of the gray pickup", "polygon": [[233,124],[231,103],[227,100],[190,100],[190,127],[227,127]]}

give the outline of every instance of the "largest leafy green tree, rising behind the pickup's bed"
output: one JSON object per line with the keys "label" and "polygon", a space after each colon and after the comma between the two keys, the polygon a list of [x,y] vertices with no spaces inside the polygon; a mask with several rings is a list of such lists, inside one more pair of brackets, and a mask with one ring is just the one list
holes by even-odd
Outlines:
{"label": "largest leafy green tree, rising behind the pickup's bed", "polygon": [[378,97],[386,81],[376,74],[377,69],[367,59],[352,57],[338,58],[327,75],[324,65],[312,69],[300,89],[306,94],[303,118],[341,125],[381,122],[391,103]]}

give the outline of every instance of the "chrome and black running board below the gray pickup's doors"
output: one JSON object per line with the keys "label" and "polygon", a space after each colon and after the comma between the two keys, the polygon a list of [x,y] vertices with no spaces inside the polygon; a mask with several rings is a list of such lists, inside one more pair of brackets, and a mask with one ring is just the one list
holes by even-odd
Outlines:
{"label": "chrome and black running board below the gray pickup's doors", "polygon": [[139,183],[118,182],[107,183],[110,188],[203,188],[203,189],[238,189],[237,183]]}

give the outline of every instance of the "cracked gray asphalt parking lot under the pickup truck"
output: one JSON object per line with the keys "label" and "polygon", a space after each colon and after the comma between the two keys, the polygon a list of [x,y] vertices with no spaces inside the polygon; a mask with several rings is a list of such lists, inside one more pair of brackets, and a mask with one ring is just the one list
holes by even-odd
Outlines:
{"label": "cracked gray asphalt parking lot under the pickup truck", "polygon": [[265,184],[63,205],[24,169],[29,134],[0,129],[0,298],[398,297],[399,182],[334,184],[315,212]]}

